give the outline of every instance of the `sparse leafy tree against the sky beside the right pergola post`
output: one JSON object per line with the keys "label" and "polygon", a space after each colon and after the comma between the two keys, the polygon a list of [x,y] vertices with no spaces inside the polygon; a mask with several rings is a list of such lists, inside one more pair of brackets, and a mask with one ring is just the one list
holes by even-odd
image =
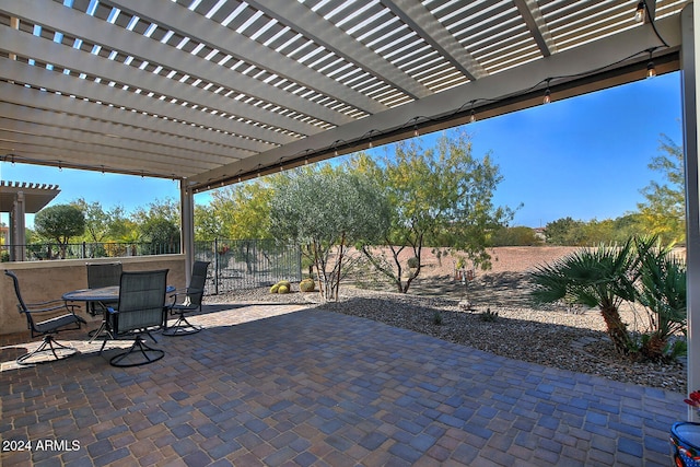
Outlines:
{"label": "sparse leafy tree against the sky beside the right pergola post", "polygon": [[665,183],[651,182],[642,189],[645,201],[638,205],[644,230],[663,243],[685,243],[686,205],[682,148],[662,135],[661,154],[649,167],[661,172]]}

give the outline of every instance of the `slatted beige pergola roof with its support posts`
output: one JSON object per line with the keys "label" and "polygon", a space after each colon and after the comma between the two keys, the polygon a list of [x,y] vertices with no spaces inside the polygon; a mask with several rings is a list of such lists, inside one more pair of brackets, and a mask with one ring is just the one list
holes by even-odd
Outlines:
{"label": "slatted beige pergola roof with its support posts", "polygon": [[[696,37],[684,0],[0,0],[2,161],[192,195],[680,70],[700,387]],[[637,16],[637,17],[635,17]],[[652,110],[650,110],[652,112]]]}

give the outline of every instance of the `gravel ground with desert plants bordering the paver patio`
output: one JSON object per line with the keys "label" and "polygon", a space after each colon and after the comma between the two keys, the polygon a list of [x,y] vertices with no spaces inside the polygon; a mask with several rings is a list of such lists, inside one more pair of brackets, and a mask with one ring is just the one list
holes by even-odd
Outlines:
{"label": "gravel ground with desert plants bordering the paver patio", "polygon": [[[687,394],[682,361],[672,364],[640,363],[618,357],[596,311],[533,308],[526,300],[524,273],[487,275],[469,290],[447,277],[433,277],[416,284],[411,293],[341,287],[337,303],[318,303],[317,293],[270,294],[268,288],[211,295],[206,303],[300,303],[320,310],[360,316],[470,346],[499,355],[542,365],[591,373],[609,380]],[[363,284],[363,287],[368,287]],[[299,290],[293,284],[293,290]],[[386,290],[386,289],[384,289]],[[468,300],[466,300],[468,297]],[[466,303],[475,310],[465,310]],[[486,322],[486,310],[498,313]],[[435,324],[435,317],[442,318]],[[630,328],[639,313],[622,312]]]}

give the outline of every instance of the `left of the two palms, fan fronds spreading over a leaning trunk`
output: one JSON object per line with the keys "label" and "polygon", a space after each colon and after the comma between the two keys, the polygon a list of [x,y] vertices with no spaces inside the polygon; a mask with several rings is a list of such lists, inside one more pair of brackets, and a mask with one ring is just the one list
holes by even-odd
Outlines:
{"label": "left of the two palms, fan fronds spreading over a leaning trunk", "polygon": [[568,300],[569,303],[598,307],[615,349],[627,354],[632,340],[619,306],[635,296],[637,256],[632,240],[621,247],[600,245],[582,248],[532,273],[532,297],[539,303]]}

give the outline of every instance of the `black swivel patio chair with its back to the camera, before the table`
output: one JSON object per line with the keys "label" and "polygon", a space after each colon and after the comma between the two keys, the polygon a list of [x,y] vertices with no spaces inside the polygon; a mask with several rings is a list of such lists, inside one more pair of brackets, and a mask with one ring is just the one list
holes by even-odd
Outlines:
{"label": "black swivel patio chair with its back to the camera, before the table", "polygon": [[[121,272],[119,303],[107,313],[109,329],[115,338],[133,336],[133,343],[126,351],[109,360],[113,366],[139,366],[161,360],[165,352],[145,343],[142,335],[158,341],[151,330],[163,326],[165,310],[165,281],[167,269],[155,271]],[[100,353],[107,339],[102,343]]]}

